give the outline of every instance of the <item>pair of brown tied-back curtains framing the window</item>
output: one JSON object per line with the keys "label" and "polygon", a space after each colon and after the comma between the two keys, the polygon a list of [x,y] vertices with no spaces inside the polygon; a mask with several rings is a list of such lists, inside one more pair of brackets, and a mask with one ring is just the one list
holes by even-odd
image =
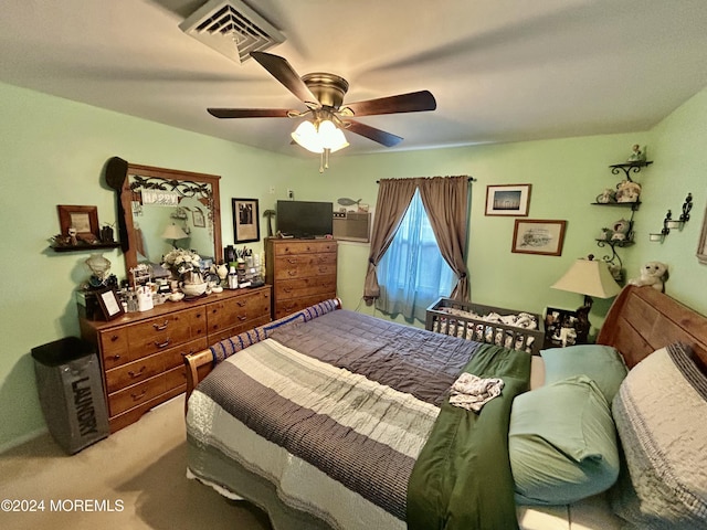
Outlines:
{"label": "pair of brown tied-back curtains framing the window", "polygon": [[380,297],[377,266],[390,246],[418,188],[420,188],[421,200],[428,211],[440,252],[458,278],[451,296],[462,301],[469,299],[464,252],[468,212],[467,177],[383,179],[378,190],[371,251],[363,286],[363,299],[368,305]]}

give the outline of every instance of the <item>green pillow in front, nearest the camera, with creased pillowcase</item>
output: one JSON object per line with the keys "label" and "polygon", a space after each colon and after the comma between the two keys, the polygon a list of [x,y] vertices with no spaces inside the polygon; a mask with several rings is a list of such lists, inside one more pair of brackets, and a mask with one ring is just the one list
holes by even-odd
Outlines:
{"label": "green pillow in front, nearest the camera, with creased pillowcase", "polygon": [[616,432],[594,381],[569,378],[518,395],[508,432],[519,505],[567,505],[619,476]]}

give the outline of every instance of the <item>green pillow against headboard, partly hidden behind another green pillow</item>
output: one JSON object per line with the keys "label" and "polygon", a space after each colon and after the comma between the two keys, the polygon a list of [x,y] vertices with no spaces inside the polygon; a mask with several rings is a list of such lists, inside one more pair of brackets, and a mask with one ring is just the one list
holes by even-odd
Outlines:
{"label": "green pillow against headboard, partly hidden behind another green pillow", "polygon": [[579,344],[540,351],[545,361],[545,384],[562,381],[572,375],[587,375],[601,390],[606,402],[619,392],[629,373],[621,354],[611,346]]}

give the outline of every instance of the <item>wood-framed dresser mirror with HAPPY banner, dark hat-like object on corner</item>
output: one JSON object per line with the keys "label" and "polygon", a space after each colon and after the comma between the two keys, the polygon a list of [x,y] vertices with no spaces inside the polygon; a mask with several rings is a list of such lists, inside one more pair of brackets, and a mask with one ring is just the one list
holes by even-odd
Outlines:
{"label": "wood-framed dresser mirror with HAPPY banner, dark hat-like object on corner", "polygon": [[106,182],[118,193],[118,232],[126,274],[152,267],[173,247],[190,248],[219,263],[221,246],[220,177],[128,163],[113,157]]}

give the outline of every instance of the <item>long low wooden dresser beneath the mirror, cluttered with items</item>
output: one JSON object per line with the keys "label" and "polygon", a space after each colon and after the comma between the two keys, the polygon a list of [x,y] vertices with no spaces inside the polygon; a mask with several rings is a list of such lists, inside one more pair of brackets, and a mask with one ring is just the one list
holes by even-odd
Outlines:
{"label": "long low wooden dresser beneath the mirror, cluttered with items", "polygon": [[271,320],[271,286],[168,301],[109,322],[80,319],[101,359],[114,433],[187,388],[183,356]]}

